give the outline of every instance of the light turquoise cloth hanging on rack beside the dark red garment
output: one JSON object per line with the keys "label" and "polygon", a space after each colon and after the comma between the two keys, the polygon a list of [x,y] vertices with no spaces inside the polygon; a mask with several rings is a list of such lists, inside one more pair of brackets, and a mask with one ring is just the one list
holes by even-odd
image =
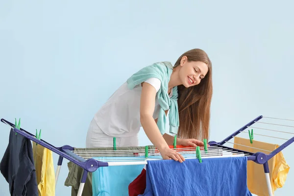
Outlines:
{"label": "light turquoise cloth hanging on rack beside the dark red garment", "polygon": [[[118,157],[93,157],[98,161],[111,162]],[[131,157],[120,157],[130,159]],[[143,156],[136,156],[144,158]],[[100,167],[92,173],[93,196],[128,196],[129,184],[142,172],[145,165]]]}

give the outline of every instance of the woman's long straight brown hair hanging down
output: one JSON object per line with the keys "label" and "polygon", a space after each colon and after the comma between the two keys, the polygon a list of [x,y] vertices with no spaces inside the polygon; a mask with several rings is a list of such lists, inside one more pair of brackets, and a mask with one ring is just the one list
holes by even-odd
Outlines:
{"label": "woman's long straight brown hair hanging down", "polygon": [[183,56],[188,61],[201,61],[207,64],[208,72],[201,82],[189,88],[178,86],[179,138],[194,138],[200,141],[209,140],[210,105],[212,98],[211,61],[202,49],[191,49],[183,53],[174,64],[180,65]]}

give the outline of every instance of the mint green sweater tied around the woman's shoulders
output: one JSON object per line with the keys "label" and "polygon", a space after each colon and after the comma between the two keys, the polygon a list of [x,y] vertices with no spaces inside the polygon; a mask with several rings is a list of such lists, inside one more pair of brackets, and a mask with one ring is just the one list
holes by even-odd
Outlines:
{"label": "mint green sweater tied around the woman's shoulders", "polygon": [[170,62],[158,62],[153,65],[149,65],[134,73],[127,79],[127,86],[129,89],[133,89],[135,86],[141,84],[151,77],[158,78],[161,81],[161,87],[156,94],[159,105],[161,107],[157,119],[157,126],[163,135],[166,131],[167,117],[165,110],[170,109],[169,121],[170,121],[170,133],[177,134],[179,127],[179,113],[177,105],[177,86],[172,89],[172,97],[169,97],[168,86],[172,74],[172,64]]}

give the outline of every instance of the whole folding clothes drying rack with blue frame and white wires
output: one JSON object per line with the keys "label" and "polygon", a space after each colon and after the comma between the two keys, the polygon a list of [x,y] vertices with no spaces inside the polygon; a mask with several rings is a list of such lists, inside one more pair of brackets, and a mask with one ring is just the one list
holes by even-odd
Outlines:
{"label": "whole folding clothes drying rack with blue frame and white wires", "polygon": [[[226,137],[221,142],[215,142],[215,141],[208,142],[208,144],[209,144],[208,151],[204,152],[203,147],[201,147],[201,149],[202,149],[201,159],[210,158],[210,157],[220,157],[221,158],[221,157],[227,157],[227,156],[247,156],[247,160],[254,161],[257,164],[263,164],[264,172],[265,172],[266,180],[267,180],[267,185],[268,185],[269,195],[272,196],[271,185],[270,185],[270,170],[269,170],[268,161],[273,156],[275,156],[277,153],[279,153],[281,150],[283,150],[285,147],[288,147],[290,144],[292,144],[294,142],[294,137],[290,138],[284,144],[282,144],[280,147],[276,148],[275,150],[271,151],[268,154],[263,153],[263,152],[252,153],[252,152],[247,152],[244,150],[239,150],[236,148],[225,146],[226,143],[230,143],[228,141],[230,141],[232,138],[237,136],[239,133],[242,133],[247,128],[252,127],[252,125],[254,123],[259,123],[262,118],[270,118],[270,117],[258,116],[254,120],[245,124],[239,130],[235,131],[234,133],[232,133],[231,135]],[[270,118],[270,119],[278,119],[278,118]],[[287,120],[287,119],[280,119],[280,120]],[[294,121],[294,120],[288,120],[288,121]],[[107,161],[98,161],[97,159],[95,159],[95,157],[109,156],[109,153],[111,154],[111,152],[108,150],[107,151],[108,153],[106,155],[105,151],[103,153],[103,151],[101,151],[101,150],[99,150],[99,151],[91,151],[90,150],[87,152],[85,152],[85,151],[80,152],[80,151],[75,151],[74,147],[71,147],[68,145],[65,145],[62,147],[54,147],[53,145],[49,144],[48,142],[44,141],[43,139],[36,138],[35,135],[31,134],[30,132],[26,131],[25,129],[16,128],[15,124],[13,124],[13,123],[10,123],[4,119],[1,119],[1,122],[10,125],[13,128],[14,132],[21,134],[25,138],[28,138],[29,140],[31,140],[31,141],[33,141],[43,147],[46,147],[59,155],[57,169],[56,169],[56,173],[55,173],[55,184],[57,184],[58,175],[60,172],[63,158],[65,158],[65,159],[73,162],[77,166],[81,167],[84,170],[84,172],[83,172],[83,175],[81,178],[81,182],[80,182],[77,196],[81,196],[81,194],[82,194],[88,172],[95,172],[99,167],[119,166],[119,165],[143,165],[143,164],[147,164],[147,161],[149,161],[149,160],[158,160],[159,159],[158,155],[160,155],[159,151],[157,149],[155,149],[155,150],[149,149],[148,150],[146,148],[145,150],[136,150],[136,151],[133,150],[132,151],[132,150],[115,150],[115,147],[114,147],[114,150],[111,150],[111,151],[115,152],[115,156],[118,157],[117,159],[115,159],[115,161],[113,161],[111,159],[109,159],[108,162]],[[271,124],[271,123],[268,123],[268,124]],[[272,125],[288,126],[288,125],[282,125],[282,124],[272,124]],[[294,126],[288,126],[288,127],[294,128]],[[257,128],[257,127],[254,127],[254,128]],[[264,129],[264,128],[261,128],[261,129]],[[272,129],[266,129],[266,130],[276,131],[276,130],[272,130]],[[281,132],[283,132],[283,131],[281,131]],[[292,132],[285,132],[285,133],[294,134]],[[255,135],[259,135],[259,134],[255,133]],[[232,143],[232,144],[234,144],[234,143]],[[177,151],[181,151],[183,153],[183,156],[185,157],[185,159],[198,158],[197,156],[185,156],[185,153],[189,153],[191,155],[191,151],[196,150],[196,147],[173,148],[173,149],[175,149]],[[221,154],[220,154],[220,151],[218,151],[220,149],[221,149]],[[187,150],[189,152],[185,152]],[[145,155],[148,154],[148,155],[145,156],[145,158],[139,158],[139,157],[136,158],[136,156],[139,156],[140,154],[145,154]],[[120,156],[123,156],[124,158],[120,158]],[[130,158],[125,159],[125,156],[129,156]]]}

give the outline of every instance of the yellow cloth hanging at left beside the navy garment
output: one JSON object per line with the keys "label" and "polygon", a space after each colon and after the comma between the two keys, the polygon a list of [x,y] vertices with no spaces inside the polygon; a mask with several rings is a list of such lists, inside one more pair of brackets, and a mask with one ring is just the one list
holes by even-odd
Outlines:
{"label": "yellow cloth hanging at left beside the navy garment", "polygon": [[52,151],[41,145],[33,144],[39,196],[55,196],[55,172]]}

